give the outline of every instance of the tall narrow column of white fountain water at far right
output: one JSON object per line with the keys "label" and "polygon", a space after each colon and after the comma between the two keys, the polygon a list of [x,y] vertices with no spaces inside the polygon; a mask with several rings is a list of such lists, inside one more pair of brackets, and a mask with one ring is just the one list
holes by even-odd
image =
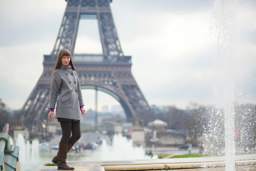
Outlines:
{"label": "tall narrow column of white fountain water at far right", "polygon": [[221,99],[224,102],[225,125],[225,154],[226,171],[235,171],[235,127],[234,127],[234,98],[235,98],[235,58],[234,47],[236,43],[236,0],[215,0],[213,18],[215,31],[218,37],[218,58],[220,67],[217,76]]}

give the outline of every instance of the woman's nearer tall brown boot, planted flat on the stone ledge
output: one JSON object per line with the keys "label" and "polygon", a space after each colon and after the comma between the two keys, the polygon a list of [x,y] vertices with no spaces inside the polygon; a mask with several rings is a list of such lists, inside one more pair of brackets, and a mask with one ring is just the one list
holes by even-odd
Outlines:
{"label": "woman's nearer tall brown boot, planted flat on the stone ledge", "polygon": [[67,144],[60,142],[58,152],[58,170],[74,170],[75,168],[67,165]]}

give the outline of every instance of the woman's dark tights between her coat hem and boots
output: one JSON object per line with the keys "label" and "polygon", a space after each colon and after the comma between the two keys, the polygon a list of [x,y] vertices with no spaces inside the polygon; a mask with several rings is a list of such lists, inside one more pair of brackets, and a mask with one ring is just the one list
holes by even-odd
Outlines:
{"label": "woman's dark tights between her coat hem and boots", "polygon": [[[80,122],[68,122],[68,121],[61,121],[61,130],[62,130],[62,137],[61,141],[64,144],[72,144],[74,145],[79,138],[81,137],[81,129],[80,129]],[[70,137],[72,132],[72,136]]]}

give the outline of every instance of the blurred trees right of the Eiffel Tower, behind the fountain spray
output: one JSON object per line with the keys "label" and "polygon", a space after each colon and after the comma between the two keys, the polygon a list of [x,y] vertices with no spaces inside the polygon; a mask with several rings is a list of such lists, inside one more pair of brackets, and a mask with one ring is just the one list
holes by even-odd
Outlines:
{"label": "blurred trees right of the Eiffel Tower, behind the fountain spray", "polygon": [[[256,140],[256,104],[234,104],[234,134],[236,144],[243,145]],[[198,138],[224,143],[225,110],[214,105],[191,103],[186,109],[168,106],[165,112],[159,112],[157,119],[168,123],[168,129],[184,130],[192,137],[191,143],[198,145]]]}

